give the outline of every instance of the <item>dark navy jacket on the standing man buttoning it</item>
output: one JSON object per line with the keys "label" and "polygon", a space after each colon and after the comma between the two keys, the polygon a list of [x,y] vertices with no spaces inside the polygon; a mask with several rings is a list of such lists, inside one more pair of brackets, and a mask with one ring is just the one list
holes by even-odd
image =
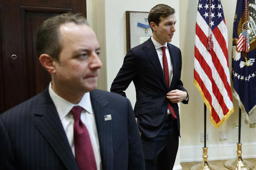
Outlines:
{"label": "dark navy jacket on the standing man buttoning it", "polygon": [[[171,56],[173,77],[167,88],[163,70],[151,38],[130,49],[123,60],[117,76],[111,85],[111,92],[125,96],[124,90],[133,81],[136,90],[135,116],[140,132],[153,138],[161,131],[166,119],[166,93],[178,89],[187,92],[180,80],[181,52],[176,46],[167,43]],[[182,103],[187,104],[188,100]],[[177,103],[171,103],[176,116],[179,133],[179,113]]]}

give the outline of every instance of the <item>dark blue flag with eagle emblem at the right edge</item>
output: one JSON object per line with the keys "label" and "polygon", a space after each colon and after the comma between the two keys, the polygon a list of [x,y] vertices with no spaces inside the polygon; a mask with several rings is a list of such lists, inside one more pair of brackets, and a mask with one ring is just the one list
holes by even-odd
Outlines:
{"label": "dark blue flag with eagle emblem at the right edge", "polygon": [[233,23],[232,92],[250,123],[256,122],[255,22],[255,0],[237,0]]}

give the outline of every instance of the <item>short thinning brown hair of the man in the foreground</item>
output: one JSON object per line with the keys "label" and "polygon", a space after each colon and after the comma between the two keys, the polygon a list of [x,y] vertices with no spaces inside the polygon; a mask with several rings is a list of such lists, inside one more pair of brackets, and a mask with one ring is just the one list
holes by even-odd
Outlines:
{"label": "short thinning brown hair of the man in the foreground", "polygon": [[36,35],[36,51],[38,57],[45,53],[57,61],[59,60],[59,53],[62,49],[59,27],[61,24],[68,22],[89,26],[87,19],[81,13],[62,13],[44,20]]}

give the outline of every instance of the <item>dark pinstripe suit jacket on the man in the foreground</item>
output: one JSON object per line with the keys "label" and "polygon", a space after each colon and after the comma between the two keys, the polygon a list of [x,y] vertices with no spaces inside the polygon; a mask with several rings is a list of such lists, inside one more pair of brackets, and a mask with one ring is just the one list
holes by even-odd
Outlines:
{"label": "dark pinstripe suit jacket on the man in the foreground", "polygon": [[[143,170],[132,108],[113,93],[90,92],[103,170]],[[105,121],[104,115],[111,115]],[[78,170],[48,88],[0,115],[1,170]]]}

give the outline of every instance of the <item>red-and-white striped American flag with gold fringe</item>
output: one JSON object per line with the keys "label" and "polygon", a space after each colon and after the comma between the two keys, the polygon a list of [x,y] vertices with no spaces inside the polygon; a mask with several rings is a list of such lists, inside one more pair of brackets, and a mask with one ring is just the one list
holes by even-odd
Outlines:
{"label": "red-and-white striped American flag with gold fringe", "polygon": [[193,83],[210,111],[212,125],[218,128],[233,113],[227,29],[220,0],[198,1],[194,56]]}

